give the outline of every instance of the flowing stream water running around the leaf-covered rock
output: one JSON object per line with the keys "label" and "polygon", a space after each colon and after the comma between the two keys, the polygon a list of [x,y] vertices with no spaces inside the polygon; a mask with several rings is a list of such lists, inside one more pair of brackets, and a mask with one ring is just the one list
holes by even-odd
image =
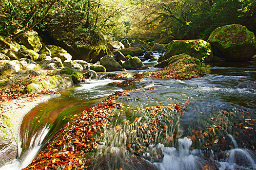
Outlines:
{"label": "flowing stream water running around the leaf-covered rock", "polygon": [[[147,64],[150,66],[152,63]],[[256,67],[246,63],[212,63],[203,68],[207,72],[205,77],[191,80],[148,78],[136,82],[131,87],[133,90],[129,91],[130,96],[119,97],[118,102],[124,103],[128,109],[110,120],[90,169],[116,169],[120,165],[124,170],[201,170],[211,165],[211,168],[220,170],[255,170],[256,124],[252,120],[256,119]],[[33,108],[20,127],[19,158],[0,170],[25,168],[65,123],[109,94],[122,90],[107,85],[114,82],[111,78],[117,73],[104,73],[98,80],[62,90],[60,97]],[[153,90],[147,90],[150,88]],[[158,137],[163,133],[158,131],[154,144],[139,145],[143,152],[137,154],[140,157],[137,159],[143,159],[145,164],[137,161],[128,163],[125,158],[135,154],[133,148],[135,150],[137,147],[133,136],[136,130],[123,122],[142,116],[137,126],[146,126],[151,117],[139,111],[176,103],[186,107],[181,115],[168,111],[164,113],[168,118],[173,118],[165,126],[170,134],[176,134],[176,142]],[[225,127],[224,131],[217,128],[221,125],[220,121]],[[236,132],[234,127],[239,128],[240,122],[243,122],[241,128],[247,130],[252,127],[252,130]],[[122,127],[118,135],[113,131],[117,125]],[[214,130],[209,130],[209,127]],[[139,134],[139,143],[145,143],[150,137],[143,129]],[[219,136],[213,140],[212,148],[207,150],[204,147],[211,141],[204,141],[204,137],[199,140],[192,137],[205,131]],[[127,137],[128,134],[130,137]],[[126,148],[128,144],[132,144],[131,150],[123,151],[121,148]],[[104,157],[102,153],[109,155],[105,154]],[[108,156],[112,156],[112,159]]]}

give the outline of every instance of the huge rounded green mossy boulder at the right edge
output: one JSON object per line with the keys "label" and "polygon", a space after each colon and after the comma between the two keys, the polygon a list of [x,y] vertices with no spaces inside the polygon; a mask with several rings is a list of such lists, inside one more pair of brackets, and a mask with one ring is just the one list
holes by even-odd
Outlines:
{"label": "huge rounded green mossy boulder at the right edge", "polygon": [[214,30],[208,42],[214,54],[229,61],[248,61],[256,54],[255,34],[242,25],[226,25]]}

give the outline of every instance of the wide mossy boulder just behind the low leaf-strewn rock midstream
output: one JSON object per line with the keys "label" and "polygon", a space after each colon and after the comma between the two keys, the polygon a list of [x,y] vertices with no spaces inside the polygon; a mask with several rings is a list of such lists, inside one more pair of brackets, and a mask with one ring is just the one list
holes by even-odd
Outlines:
{"label": "wide mossy boulder just behind the low leaf-strewn rock midstream", "polygon": [[213,60],[213,52],[210,43],[202,39],[195,39],[173,40],[166,49],[164,56],[160,57],[158,61],[164,61],[181,53],[186,53],[204,62],[211,62]]}

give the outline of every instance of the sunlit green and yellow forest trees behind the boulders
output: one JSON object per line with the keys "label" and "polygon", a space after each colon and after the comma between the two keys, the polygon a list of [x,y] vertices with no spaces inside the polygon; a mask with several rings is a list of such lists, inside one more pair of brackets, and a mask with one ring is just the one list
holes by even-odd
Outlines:
{"label": "sunlit green and yellow forest trees behind the boulders", "polygon": [[217,27],[241,24],[256,33],[255,0],[1,0],[0,34],[34,29],[64,41],[207,39]]}

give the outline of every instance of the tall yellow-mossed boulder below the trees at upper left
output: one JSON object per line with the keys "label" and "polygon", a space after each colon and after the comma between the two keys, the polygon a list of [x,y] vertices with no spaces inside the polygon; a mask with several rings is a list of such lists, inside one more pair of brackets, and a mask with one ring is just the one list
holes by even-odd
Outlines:
{"label": "tall yellow-mossed boulder below the trees at upper left", "polygon": [[20,41],[27,49],[35,52],[39,52],[39,50],[42,48],[38,33],[33,30],[20,35]]}

